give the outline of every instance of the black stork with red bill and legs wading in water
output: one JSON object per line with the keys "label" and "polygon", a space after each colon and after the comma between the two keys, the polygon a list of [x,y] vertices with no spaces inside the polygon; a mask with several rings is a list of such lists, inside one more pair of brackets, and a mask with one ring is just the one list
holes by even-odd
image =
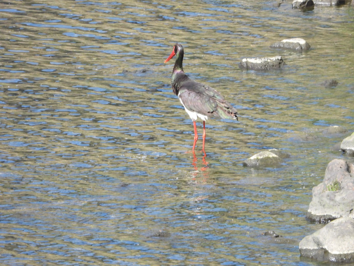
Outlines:
{"label": "black stork with red bill and legs wading in water", "polygon": [[173,93],[178,96],[179,101],[183,105],[185,111],[188,113],[190,119],[193,121],[193,153],[195,144],[198,139],[195,121],[198,117],[203,120],[202,151],[205,154],[205,120],[212,116],[225,119],[234,118],[238,120],[237,110],[227,101],[225,101],[224,97],[221,96],[221,94],[218,93],[215,89],[187,77],[187,75],[183,72],[183,53],[183,46],[176,43],[175,46],[173,46],[173,50],[170,56],[165,60],[165,63],[176,55],[177,58],[171,77],[172,90]]}

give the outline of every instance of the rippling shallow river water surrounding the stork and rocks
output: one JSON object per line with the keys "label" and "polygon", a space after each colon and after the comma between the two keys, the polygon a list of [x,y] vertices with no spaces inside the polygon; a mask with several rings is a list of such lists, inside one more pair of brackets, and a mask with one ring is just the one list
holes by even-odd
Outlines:
{"label": "rippling shallow river water surrounding the stork and rocks", "polygon": [[[278,3],[2,2],[1,264],[316,264],[298,250],[323,226],[305,219],[312,187],[353,162],[335,145],[354,130],[354,10]],[[292,37],[312,49],[269,48]],[[206,122],[206,157],[186,153],[164,64],[176,41],[185,72],[239,111]],[[274,55],[284,69],[238,67]],[[291,156],[242,166],[270,148]]]}

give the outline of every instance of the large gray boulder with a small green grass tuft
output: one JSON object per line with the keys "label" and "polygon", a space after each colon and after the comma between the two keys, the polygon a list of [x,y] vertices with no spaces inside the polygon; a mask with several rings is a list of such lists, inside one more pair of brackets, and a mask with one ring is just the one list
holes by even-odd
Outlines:
{"label": "large gray boulder with a small green grass tuft", "polygon": [[312,201],[306,217],[326,223],[340,217],[354,218],[354,165],[342,159],[332,160],[323,182],[312,189]]}

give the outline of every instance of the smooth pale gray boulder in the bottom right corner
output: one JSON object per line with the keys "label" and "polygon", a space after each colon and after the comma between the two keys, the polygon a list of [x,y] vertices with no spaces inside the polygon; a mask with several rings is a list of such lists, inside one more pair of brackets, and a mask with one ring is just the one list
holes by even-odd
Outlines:
{"label": "smooth pale gray boulder in the bottom right corner", "polygon": [[354,261],[354,220],[339,218],[299,243],[300,254],[320,261]]}

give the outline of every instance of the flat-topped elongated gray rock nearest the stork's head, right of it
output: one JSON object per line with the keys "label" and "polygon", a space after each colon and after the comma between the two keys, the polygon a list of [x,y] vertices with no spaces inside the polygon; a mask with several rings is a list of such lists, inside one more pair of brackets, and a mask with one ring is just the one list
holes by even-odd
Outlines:
{"label": "flat-topped elongated gray rock nearest the stork's head, right of it", "polygon": [[256,57],[256,58],[244,58],[239,64],[240,68],[245,70],[271,70],[279,69],[285,62],[281,56],[274,57]]}

